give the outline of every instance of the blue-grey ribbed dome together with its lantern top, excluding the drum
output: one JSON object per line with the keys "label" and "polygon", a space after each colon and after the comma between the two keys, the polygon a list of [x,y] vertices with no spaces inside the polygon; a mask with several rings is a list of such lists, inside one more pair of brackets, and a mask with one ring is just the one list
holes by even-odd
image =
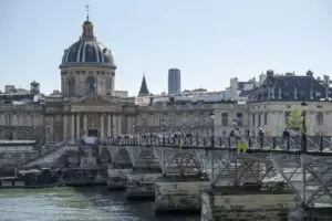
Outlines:
{"label": "blue-grey ribbed dome together with its lantern top, excluding the drum", "polygon": [[83,33],[80,40],[64,50],[60,66],[76,64],[115,67],[111,50],[96,41],[93,34],[93,23],[89,19],[83,23]]}

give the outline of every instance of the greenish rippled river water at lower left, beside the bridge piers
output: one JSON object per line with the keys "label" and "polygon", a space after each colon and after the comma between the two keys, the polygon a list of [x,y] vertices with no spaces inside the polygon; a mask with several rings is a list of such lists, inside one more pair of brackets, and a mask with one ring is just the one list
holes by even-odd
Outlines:
{"label": "greenish rippled river water at lower left, beside the bridge piers", "polygon": [[153,201],[128,201],[106,187],[0,189],[0,221],[199,221],[158,214]]}

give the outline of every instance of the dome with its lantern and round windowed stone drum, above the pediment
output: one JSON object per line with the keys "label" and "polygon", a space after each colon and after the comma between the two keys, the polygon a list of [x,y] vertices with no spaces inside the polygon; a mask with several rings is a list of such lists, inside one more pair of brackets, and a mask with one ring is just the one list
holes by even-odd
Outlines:
{"label": "dome with its lantern and round windowed stone drum, above the pediment", "polygon": [[114,95],[114,59],[111,50],[96,41],[89,18],[80,40],[64,50],[60,69],[63,96]]}

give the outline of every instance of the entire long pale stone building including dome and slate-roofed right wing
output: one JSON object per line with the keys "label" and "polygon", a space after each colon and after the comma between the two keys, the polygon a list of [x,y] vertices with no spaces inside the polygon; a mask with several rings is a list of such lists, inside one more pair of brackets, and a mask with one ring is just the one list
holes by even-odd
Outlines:
{"label": "entire long pale stone building including dome and slate-roofed right wing", "polygon": [[[221,98],[175,101],[172,96],[166,102],[154,103],[149,96],[138,96],[136,101],[116,96],[113,55],[96,41],[89,19],[83,23],[79,41],[64,51],[60,70],[60,96],[34,102],[35,90],[32,90],[27,95],[30,101],[17,105],[11,102],[12,95],[1,95],[0,138],[43,143],[77,139],[83,135],[105,138],[138,133],[211,136],[212,130],[215,136],[228,136],[236,127],[249,130],[250,135],[263,127],[267,135],[280,136],[288,116],[301,106],[302,98],[308,103],[308,135],[332,134],[329,90],[325,83],[312,77],[312,72],[295,76],[268,71],[260,85],[242,91],[242,98],[248,101],[242,104]],[[148,94],[144,77],[141,95]],[[136,105],[141,103],[145,105]]]}

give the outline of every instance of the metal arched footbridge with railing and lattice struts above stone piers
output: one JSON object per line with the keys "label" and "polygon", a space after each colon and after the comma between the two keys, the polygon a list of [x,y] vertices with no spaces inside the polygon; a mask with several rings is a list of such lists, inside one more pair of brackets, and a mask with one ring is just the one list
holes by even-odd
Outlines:
{"label": "metal arched footbridge with railing and lattice struts above stone piers", "polygon": [[95,147],[117,168],[207,175],[211,187],[283,180],[303,206],[332,206],[330,137],[114,138]]}

